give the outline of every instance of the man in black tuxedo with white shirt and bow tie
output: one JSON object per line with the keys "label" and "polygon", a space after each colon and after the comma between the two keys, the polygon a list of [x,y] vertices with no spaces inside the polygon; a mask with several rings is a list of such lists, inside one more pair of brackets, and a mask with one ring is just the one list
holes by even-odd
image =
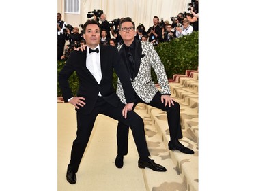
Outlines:
{"label": "man in black tuxedo with white shirt and bow tie", "polygon": [[[165,167],[148,158],[150,152],[145,140],[143,120],[132,111],[134,105],[132,85],[117,48],[99,44],[100,24],[96,20],[88,20],[83,25],[83,32],[87,44],[86,51],[71,52],[58,76],[63,99],[76,107],[77,119],[76,139],[72,145],[66,179],[70,184],[76,183],[76,172],[98,114],[104,114],[130,126],[139,153],[140,168],[166,171]],[[113,69],[124,87],[126,105],[120,101],[113,88]],[[68,78],[74,71],[79,77],[77,96],[73,96],[68,84]]]}

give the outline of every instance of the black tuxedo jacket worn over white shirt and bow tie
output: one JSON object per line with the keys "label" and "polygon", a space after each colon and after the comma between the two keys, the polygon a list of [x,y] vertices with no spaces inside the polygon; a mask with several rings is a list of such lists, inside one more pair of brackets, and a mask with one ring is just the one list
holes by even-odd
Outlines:
{"label": "black tuxedo jacket worn over white shirt and bow tie", "polygon": [[94,76],[86,67],[86,54],[87,51],[72,51],[63,69],[59,72],[58,82],[64,101],[68,102],[68,99],[74,97],[68,83],[68,78],[74,71],[76,71],[76,74],[79,77],[79,90],[77,96],[85,97],[86,103],[84,107],[76,109],[76,111],[89,114],[96,104],[99,91],[106,102],[117,107],[120,99],[113,88],[113,69],[115,69],[115,73],[117,73],[117,76],[124,87],[127,103],[134,102],[134,93],[130,77],[117,48],[114,46],[100,45],[100,65],[102,71],[102,80],[100,81],[100,84],[98,84]]}

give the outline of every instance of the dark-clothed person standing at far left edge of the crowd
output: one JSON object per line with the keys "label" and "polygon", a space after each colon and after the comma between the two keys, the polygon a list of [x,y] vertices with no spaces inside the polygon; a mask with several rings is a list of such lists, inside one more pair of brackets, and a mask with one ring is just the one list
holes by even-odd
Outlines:
{"label": "dark-clothed person standing at far left edge of the crowd", "polygon": [[66,26],[66,22],[61,20],[61,14],[57,13],[57,59],[61,60],[61,56],[63,55],[64,46],[66,43],[64,29]]}

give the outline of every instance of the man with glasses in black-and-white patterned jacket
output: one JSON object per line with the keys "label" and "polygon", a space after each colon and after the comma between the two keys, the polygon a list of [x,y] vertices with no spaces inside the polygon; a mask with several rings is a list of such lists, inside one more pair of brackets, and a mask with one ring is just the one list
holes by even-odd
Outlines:
{"label": "man with glasses in black-and-white patterned jacket", "polygon": [[[134,38],[136,35],[135,24],[131,18],[126,17],[119,23],[119,34],[124,44],[117,48],[121,54],[126,67],[130,71],[132,87],[134,89],[134,107],[137,103],[145,103],[162,109],[167,112],[167,120],[170,131],[170,141],[168,143],[170,150],[180,150],[186,154],[194,154],[193,150],[184,147],[178,139],[182,138],[182,129],[180,126],[180,104],[171,98],[171,91],[165,73],[165,67],[160,57],[154,50],[150,42],[138,41]],[[161,92],[156,88],[151,77],[151,67],[157,75]],[[117,82],[117,95],[123,103],[126,103],[122,84]],[[117,157],[115,165],[122,168],[124,164],[124,155],[128,153],[128,133],[129,127],[122,122],[117,126]]]}

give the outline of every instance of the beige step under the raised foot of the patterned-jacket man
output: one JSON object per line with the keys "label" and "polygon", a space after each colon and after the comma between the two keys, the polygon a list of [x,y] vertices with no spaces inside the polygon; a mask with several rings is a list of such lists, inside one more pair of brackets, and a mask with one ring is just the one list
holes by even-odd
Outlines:
{"label": "beige step under the raised foot of the patterned-jacket man", "polygon": [[[154,120],[154,126],[156,126],[159,135],[162,137],[165,147],[168,150],[168,143],[170,141],[169,128],[167,124],[166,113],[155,107],[147,105],[147,112],[150,114],[152,120]],[[181,116],[182,117],[182,116]],[[193,149],[195,154],[183,154],[180,151],[171,151],[171,160],[175,163],[175,169],[182,176],[183,181],[186,183],[188,190],[198,190],[198,135],[193,133],[190,128],[182,128],[183,138],[180,142]],[[197,136],[197,137],[196,137]]]}

